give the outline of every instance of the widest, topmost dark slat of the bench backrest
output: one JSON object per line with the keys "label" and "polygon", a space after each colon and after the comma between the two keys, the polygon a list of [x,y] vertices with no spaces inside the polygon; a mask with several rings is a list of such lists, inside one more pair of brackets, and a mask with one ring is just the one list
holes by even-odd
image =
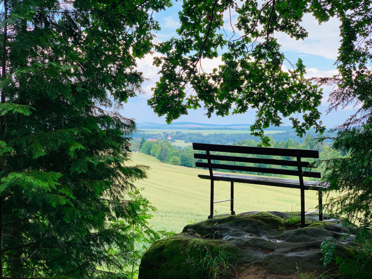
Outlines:
{"label": "widest, topmost dark slat of the bench backrest", "polygon": [[287,157],[297,157],[296,154],[297,152],[299,152],[300,157],[319,158],[318,150],[205,144],[205,143],[197,143],[197,142],[193,142],[192,147],[194,150],[208,150],[208,151],[219,151],[219,152],[232,152],[232,153],[257,154],[257,155],[274,155],[274,156],[287,156]]}

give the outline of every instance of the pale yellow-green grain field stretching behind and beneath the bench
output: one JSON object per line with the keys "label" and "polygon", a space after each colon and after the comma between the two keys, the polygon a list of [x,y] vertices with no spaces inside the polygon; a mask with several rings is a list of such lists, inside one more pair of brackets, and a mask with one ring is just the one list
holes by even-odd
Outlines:
{"label": "pale yellow-green grain field stretching behind and beneath the bench", "polygon": [[[135,182],[144,187],[142,195],[158,210],[151,223],[157,230],[180,232],[188,221],[202,221],[209,215],[209,180],[198,178],[208,170],[161,163],[143,153],[132,153],[134,164],[151,167],[148,179]],[[305,208],[318,204],[316,191],[305,191]],[[215,182],[215,201],[230,198],[230,183]],[[247,211],[291,211],[299,209],[299,190],[283,187],[235,183],[234,209]],[[218,214],[230,213],[230,203],[215,203]]]}

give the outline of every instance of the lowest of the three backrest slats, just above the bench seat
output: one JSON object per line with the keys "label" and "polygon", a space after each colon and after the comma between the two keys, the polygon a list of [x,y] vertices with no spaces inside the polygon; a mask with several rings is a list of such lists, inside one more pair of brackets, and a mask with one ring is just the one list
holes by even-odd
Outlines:
{"label": "lowest of the three backrest slats, just above the bench seat", "polygon": [[[209,163],[195,163],[196,167],[209,168]],[[297,170],[285,170],[285,169],[273,169],[273,168],[263,168],[263,167],[248,167],[248,166],[239,166],[239,165],[230,165],[230,164],[211,164],[212,169],[220,170],[238,170],[238,171],[251,171],[256,173],[272,173],[272,174],[284,174],[284,175],[293,175],[298,176]],[[302,176],[305,177],[315,177],[320,178],[320,172],[315,171],[304,171]]]}

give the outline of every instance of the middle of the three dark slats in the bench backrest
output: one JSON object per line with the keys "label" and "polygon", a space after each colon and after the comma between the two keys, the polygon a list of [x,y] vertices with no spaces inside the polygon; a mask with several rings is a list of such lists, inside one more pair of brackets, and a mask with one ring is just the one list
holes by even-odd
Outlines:
{"label": "middle of the three dark slats in the bench backrest", "polygon": [[[194,158],[195,159],[207,159],[207,155],[195,153]],[[231,162],[270,164],[270,165],[278,165],[278,166],[297,167],[297,161],[290,161],[290,160],[252,158],[252,157],[240,157],[240,156],[228,156],[228,155],[210,155],[210,158],[211,160],[219,160],[219,161],[231,161]],[[301,167],[307,167],[309,164],[310,164],[309,162],[301,162]]]}

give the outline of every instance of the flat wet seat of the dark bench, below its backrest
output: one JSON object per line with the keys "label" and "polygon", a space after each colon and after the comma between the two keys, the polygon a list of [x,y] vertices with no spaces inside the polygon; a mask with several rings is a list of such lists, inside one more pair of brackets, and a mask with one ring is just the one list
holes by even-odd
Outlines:
{"label": "flat wet seat of the dark bench, below its backrest", "polygon": [[[199,174],[198,177],[201,179],[211,179],[210,175],[205,175],[205,174]],[[213,174],[213,180],[300,189],[300,184],[298,180],[282,179],[282,178],[277,178],[277,177],[260,177],[260,176],[216,173],[216,174]],[[319,189],[325,188],[323,186],[318,186],[316,184],[317,184],[316,181],[304,181],[305,190],[319,190]]]}

